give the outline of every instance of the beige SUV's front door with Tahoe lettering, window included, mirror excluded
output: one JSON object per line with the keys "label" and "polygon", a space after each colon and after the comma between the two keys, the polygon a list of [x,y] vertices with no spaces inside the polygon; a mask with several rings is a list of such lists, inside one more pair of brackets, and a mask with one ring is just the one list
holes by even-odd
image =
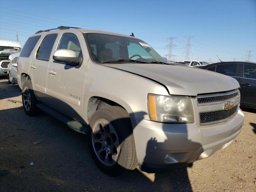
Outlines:
{"label": "beige SUV's front door with Tahoe lettering, window included, mirror excluded", "polygon": [[[82,36],[82,33],[63,32],[55,50],[73,50],[77,57],[83,57],[78,36]],[[47,76],[46,92],[52,96],[48,105],[80,122],[83,122],[81,112],[87,61],[83,59],[82,64],[72,66],[52,60]]]}

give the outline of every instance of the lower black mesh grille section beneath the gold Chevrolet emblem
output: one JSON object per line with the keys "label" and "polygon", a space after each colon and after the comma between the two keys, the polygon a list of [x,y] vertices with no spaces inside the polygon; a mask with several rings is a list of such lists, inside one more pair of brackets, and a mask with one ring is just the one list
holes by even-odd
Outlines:
{"label": "lower black mesh grille section beneath the gold Chevrolet emblem", "polygon": [[234,106],[230,110],[200,113],[200,122],[202,124],[202,123],[209,123],[209,122],[224,120],[232,116],[237,111],[237,108],[238,108],[238,105]]}

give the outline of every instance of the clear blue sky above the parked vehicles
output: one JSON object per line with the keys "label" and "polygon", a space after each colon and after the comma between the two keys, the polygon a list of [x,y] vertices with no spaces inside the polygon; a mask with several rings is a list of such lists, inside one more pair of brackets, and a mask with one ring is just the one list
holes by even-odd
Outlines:
{"label": "clear blue sky above the parked vehicles", "polygon": [[[38,30],[73,26],[130,35],[171,60],[256,62],[256,0],[0,0],[0,39],[24,45]],[[167,56],[168,57],[168,56]]]}

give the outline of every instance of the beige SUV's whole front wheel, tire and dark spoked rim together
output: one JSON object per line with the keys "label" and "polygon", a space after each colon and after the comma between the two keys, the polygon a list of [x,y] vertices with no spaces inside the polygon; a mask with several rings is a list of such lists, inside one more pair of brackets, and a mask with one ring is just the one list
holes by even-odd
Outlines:
{"label": "beige SUV's whole front wheel, tire and dark spoked rim together", "polygon": [[89,126],[90,152],[103,172],[117,176],[138,166],[132,124],[126,110],[119,106],[100,108],[92,115]]}

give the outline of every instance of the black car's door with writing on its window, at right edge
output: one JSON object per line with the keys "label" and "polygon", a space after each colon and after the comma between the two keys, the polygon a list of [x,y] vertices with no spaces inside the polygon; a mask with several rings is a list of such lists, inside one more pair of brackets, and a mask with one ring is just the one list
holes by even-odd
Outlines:
{"label": "black car's door with writing on its window, at right edge", "polygon": [[241,66],[241,104],[256,107],[256,64],[244,63]]}

